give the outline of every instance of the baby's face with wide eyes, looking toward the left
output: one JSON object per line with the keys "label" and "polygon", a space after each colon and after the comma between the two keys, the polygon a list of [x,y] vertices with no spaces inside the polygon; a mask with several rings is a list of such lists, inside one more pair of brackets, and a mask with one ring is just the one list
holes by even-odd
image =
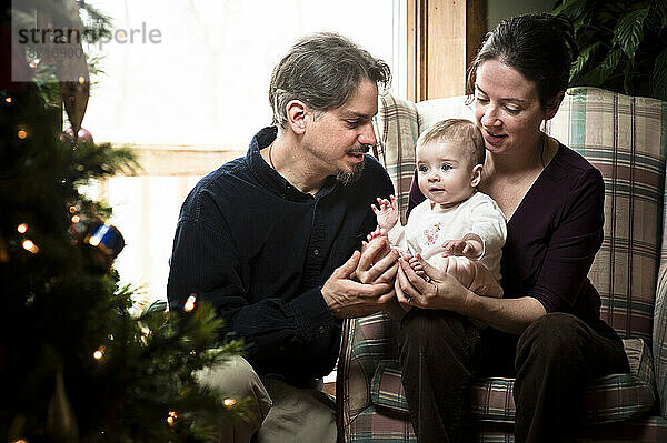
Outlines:
{"label": "baby's face with wide eyes, looking toward the left", "polygon": [[421,193],[446,208],[475,192],[475,164],[459,143],[434,140],[417,147],[417,178]]}

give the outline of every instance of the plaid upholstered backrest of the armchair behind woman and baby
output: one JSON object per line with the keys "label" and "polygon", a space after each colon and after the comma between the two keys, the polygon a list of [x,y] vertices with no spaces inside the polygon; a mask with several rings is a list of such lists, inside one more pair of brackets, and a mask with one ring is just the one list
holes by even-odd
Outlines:
{"label": "plaid upholstered backrest of the armchair behind woman and baby", "polygon": [[[442,119],[472,119],[465,101],[454,97],[415,105],[382,98],[385,164],[404,213],[419,133]],[[589,273],[603,298],[603,319],[623,338],[650,341],[663,235],[667,103],[574,88],[545,130],[585,155],[605,179],[605,239]]]}

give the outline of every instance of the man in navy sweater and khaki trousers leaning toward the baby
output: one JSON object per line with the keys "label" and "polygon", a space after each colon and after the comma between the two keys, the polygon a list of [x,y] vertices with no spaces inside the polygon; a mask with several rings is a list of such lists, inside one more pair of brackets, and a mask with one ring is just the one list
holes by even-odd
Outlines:
{"label": "man in navy sweater and khaki trousers leaning toward the baby", "polygon": [[389,82],[385,62],[340,36],[297,41],[272,73],[275,125],[183,203],[170,309],[195,294],[248,346],[246,360],[199,374],[203,385],[252,397],[255,421],[222,441],[256,431],[258,442],[336,441],[334,405],[318,387],[336,362],[341,319],[395,303],[397,254],[386,239],[355,251],[376,226],[370,204],[392,193],[365,155],[377,142],[378,84]]}

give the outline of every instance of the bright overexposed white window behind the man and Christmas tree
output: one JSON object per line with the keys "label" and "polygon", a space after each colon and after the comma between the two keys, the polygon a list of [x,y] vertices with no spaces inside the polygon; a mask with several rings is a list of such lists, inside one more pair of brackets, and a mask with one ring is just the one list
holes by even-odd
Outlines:
{"label": "bright overexposed white window behind the man and Christmas tree", "polygon": [[[88,192],[126,238],[116,269],[143,299],[166,296],[180,205],[207,172],[242,155],[270,123],[273,64],[298,38],[336,31],[392,68],[405,97],[405,0],[89,0],[113,18],[83,127],[129,145],[145,168]],[[152,42],[150,32],[152,31]],[[132,41],[130,41],[130,37]]]}

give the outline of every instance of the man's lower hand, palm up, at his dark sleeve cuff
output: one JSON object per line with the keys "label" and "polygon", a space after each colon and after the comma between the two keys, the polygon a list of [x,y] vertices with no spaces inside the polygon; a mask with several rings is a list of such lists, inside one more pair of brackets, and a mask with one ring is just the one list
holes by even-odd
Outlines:
{"label": "man's lower hand, palm up, at his dark sleeve cuff", "polygon": [[351,279],[360,259],[361,253],[355,251],[322,286],[322,298],[334,316],[346,319],[368,315],[382,310],[396,298],[392,279],[389,282],[375,283],[360,283]]}

